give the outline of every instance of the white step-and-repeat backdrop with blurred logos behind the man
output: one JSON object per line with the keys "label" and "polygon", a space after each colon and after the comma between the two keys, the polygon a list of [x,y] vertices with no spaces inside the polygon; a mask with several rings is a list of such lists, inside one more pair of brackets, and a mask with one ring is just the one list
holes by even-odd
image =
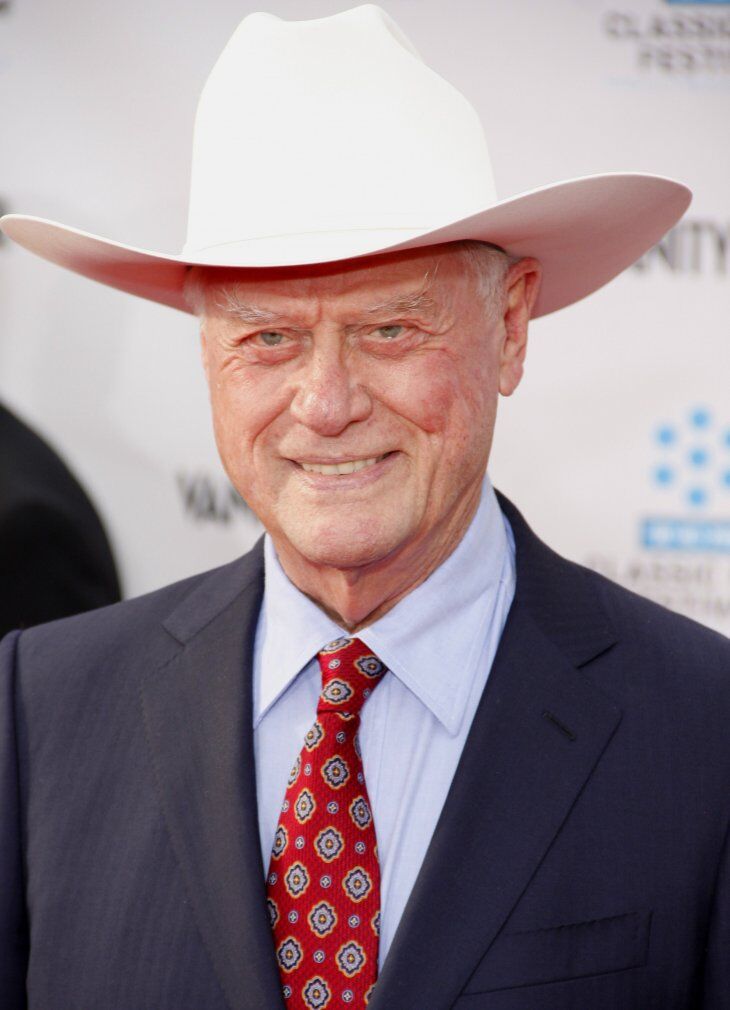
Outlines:
{"label": "white step-and-repeat backdrop with blurred logos behind the man", "polygon": [[[0,2],[3,209],[178,251],[197,96],[259,6]],[[557,550],[730,633],[730,3],[384,6],[478,108],[502,196],[612,171],[694,189],[640,263],[534,324],[491,473]],[[258,536],[217,461],[193,318],[4,240],[0,397],[89,489],[126,595]]]}

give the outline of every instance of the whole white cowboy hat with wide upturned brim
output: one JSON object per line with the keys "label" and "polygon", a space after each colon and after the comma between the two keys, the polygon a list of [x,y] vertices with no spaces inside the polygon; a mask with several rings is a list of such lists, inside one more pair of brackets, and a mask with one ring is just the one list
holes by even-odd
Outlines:
{"label": "whole white cowboy hat with wide upturned brim", "polygon": [[542,262],[538,316],[632,264],[690,199],[680,183],[633,173],[499,201],[472,105],[366,4],[240,23],[198,106],[179,256],[20,214],[0,226],[53,263],[183,310],[193,264],[293,267],[475,238]]}

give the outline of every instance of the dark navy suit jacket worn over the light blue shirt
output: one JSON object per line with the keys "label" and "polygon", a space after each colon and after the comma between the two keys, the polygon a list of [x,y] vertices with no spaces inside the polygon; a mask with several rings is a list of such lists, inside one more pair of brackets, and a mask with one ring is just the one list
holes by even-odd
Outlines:
{"label": "dark navy suit jacket worn over the light blue shirt", "polygon": [[[503,508],[514,604],[371,1008],[729,1008],[730,643]],[[2,1010],[282,1007],[262,590],[257,547],[5,640]]]}

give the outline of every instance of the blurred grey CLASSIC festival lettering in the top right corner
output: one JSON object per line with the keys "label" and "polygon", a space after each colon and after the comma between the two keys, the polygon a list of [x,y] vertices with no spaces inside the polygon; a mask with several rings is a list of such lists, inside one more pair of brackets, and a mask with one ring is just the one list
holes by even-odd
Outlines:
{"label": "blurred grey CLASSIC festival lettering in the top right corner", "polygon": [[655,0],[653,11],[609,9],[602,30],[640,75],[730,81],[730,0]]}

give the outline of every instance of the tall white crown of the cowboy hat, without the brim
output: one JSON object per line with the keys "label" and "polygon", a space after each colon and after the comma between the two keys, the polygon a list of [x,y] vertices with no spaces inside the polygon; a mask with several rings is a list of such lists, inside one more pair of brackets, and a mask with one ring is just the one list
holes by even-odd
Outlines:
{"label": "tall white crown of the cowboy hat, without the brim", "polygon": [[211,263],[286,235],[394,243],[497,199],[475,109],[373,4],[246,17],[203,89],[193,152],[183,255]]}

